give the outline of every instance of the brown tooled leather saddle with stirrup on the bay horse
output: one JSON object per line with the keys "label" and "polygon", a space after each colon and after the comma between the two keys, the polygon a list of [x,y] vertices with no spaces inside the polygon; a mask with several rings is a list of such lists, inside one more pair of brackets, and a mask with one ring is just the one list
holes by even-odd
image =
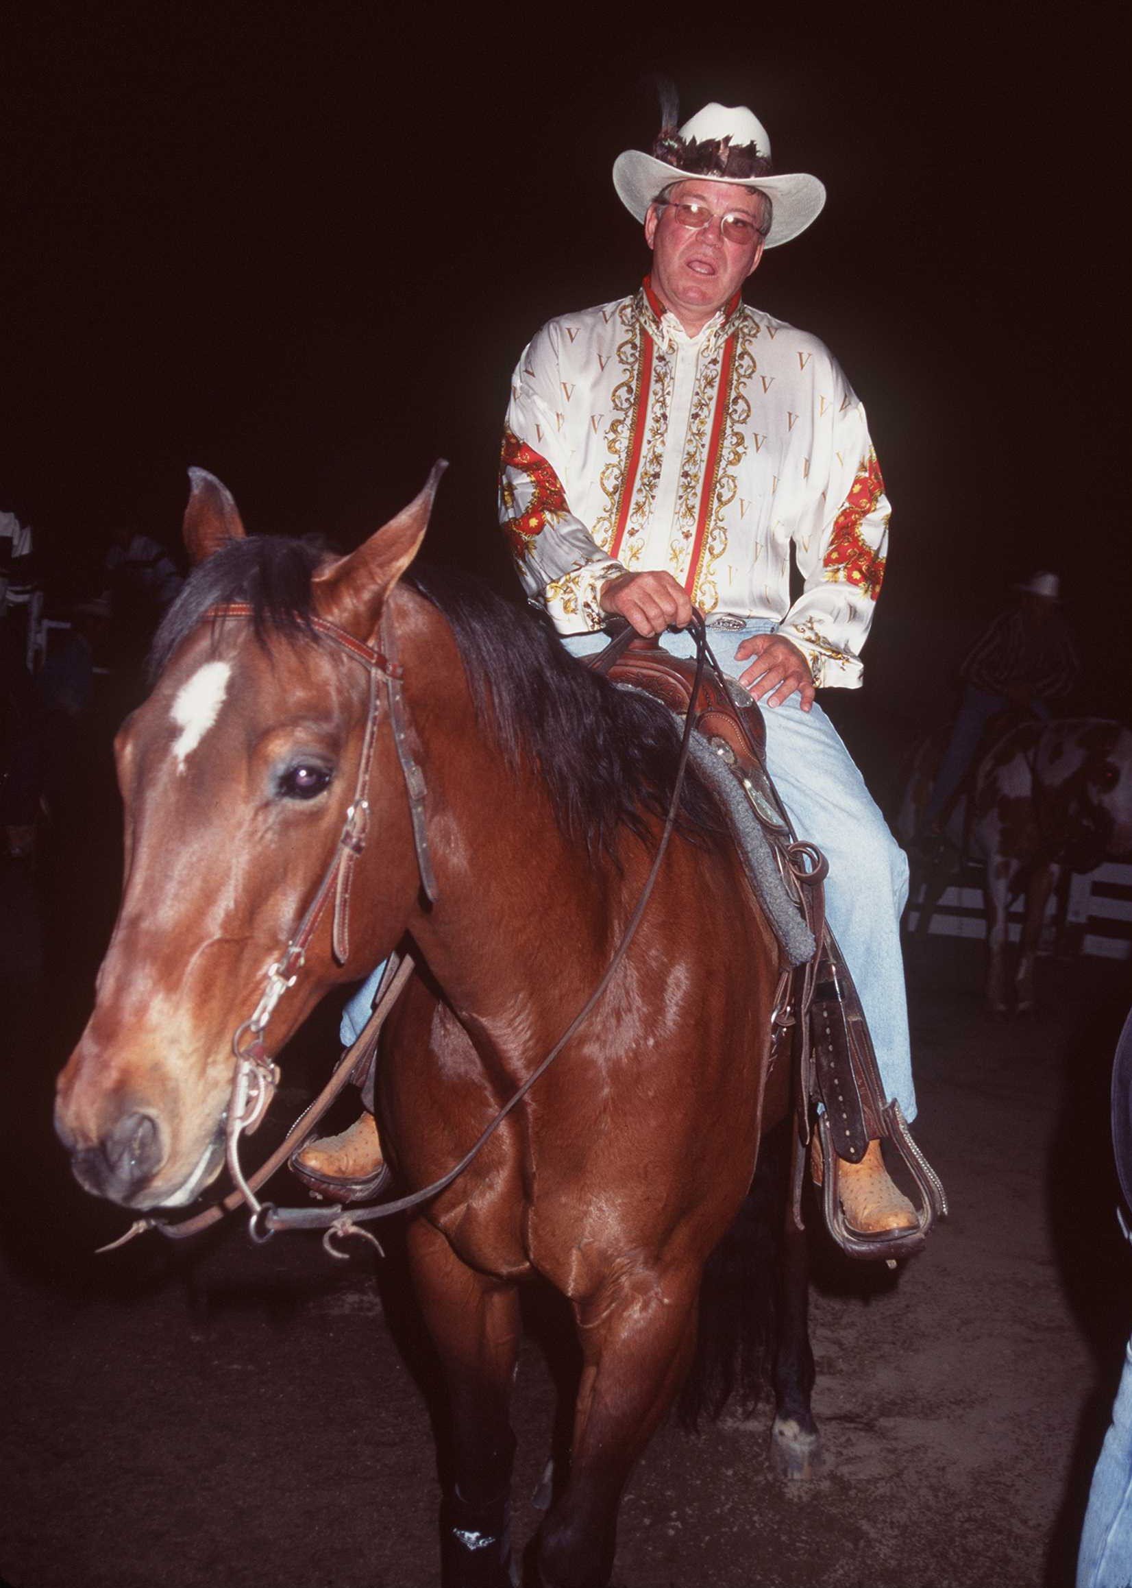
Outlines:
{"label": "brown tooled leather saddle with stirrup on the bay horse", "polygon": [[[765,726],[757,700],[710,665],[695,689],[697,664],[641,640],[626,626],[589,665],[613,683],[645,689],[676,716],[692,710],[692,727],[730,767],[775,854],[783,881],[813,931],[814,954],[780,972],[772,1043],[792,1037],[795,1118],[794,1215],[802,1224],[807,1151],[821,1150],[822,1213],[834,1240],[856,1258],[907,1258],[919,1251],[937,1218],[946,1215],[938,1175],[919,1147],[895,1099],[886,1099],[868,1026],[853,977],[826,923],[822,880],[827,864],[811,843],[800,843],[765,764]],[[773,1050],[772,1050],[773,1051]],[[861,1162],[870,1140],[888,1139],[908,1169],[919,1196],[918,1224],[886,1235],[854,1231],[841,1212],[838,1162]]]}

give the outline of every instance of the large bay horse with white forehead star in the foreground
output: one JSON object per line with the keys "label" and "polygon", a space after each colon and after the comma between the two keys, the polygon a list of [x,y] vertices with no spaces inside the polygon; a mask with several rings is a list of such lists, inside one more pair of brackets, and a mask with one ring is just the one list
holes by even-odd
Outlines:
{"label": "large bay horse with white forehead star in the foreground", "polygon": [[[117,735],[124,892],[59,1078],[57,1131],[79,1181],[129,1208],[184,1207],[218,1175],[233,1031],[354,796],[370,838],[348,942],[327,908],[265,1042],[278,1053],[325,992],[408,939],[422,973],[387,1027],[378,1112],[389,1161],[419,1188],[462,1158],[600,981],[651,865],[678,734],[533,616],[410,572],[438,470],[345,557],[246,538],[224,486],[192,478],[184,535],[198,567],[157,634],[154,689]],[[399,680],[400,727],[375,667]],[[424,780],[435,902],[402,754]],[[760,1135],[789,1110],[789,1059],[772,1061],[768,1040],[778,966],[716,808],[689,780],[595,1013],[408,1223],[451,1401],[445,1588],[511,1582],[508,1396],[518,1286],[535,1277],[567,1297],[583,1361],[538,1571],[549,1588],[608,1583],[626,1480],[692,1363],[705,1262],[751,1186]],[[794,1232],[773,1363],[772,1448],[794,1470],[816,1445],[800,1253]]]}

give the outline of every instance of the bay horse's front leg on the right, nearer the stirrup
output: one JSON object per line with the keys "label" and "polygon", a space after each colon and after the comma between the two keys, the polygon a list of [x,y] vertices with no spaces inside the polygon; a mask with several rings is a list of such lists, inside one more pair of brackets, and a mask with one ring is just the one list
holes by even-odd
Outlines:
{"label": "bay horse's front leg on the right, nearer the stirrup", "polygon": [[545,1588],[605,1588],[621,1493],[695,1348],[700,1267],[619,1274],[575,1302],[583,1372],[570,1478],[538,1532]]}

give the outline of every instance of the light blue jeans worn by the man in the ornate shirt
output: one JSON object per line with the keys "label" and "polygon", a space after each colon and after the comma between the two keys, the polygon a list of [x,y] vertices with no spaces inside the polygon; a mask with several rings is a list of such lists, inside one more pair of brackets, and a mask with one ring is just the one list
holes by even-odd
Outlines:
{"label": "light blue jeans worn by the man in the ornate shirt", "polygon": [[[768,619],[751,619],[741,630],[710,629],[719,665],[738,678],[749,662],[735,651],[753,634],[770,634]],[[605,634],[565,640],[573,656],[589,656],[608,643]],[[689,634],[667,634],[665,649],[694,656]],[[900,916],[908,899],[908,861],[889,832],[849,751],[821,710],[803,711],[797,692],[764,713],[767,767],[794,829],[813,840],[829,859],[826,913],[857,986],[886,1097],[897,1097],[905,1120],[916,1118],[908,1043],[908,1005],[903,989]],[[352,1042],[370,1015],[381,967],[346,1005],[343,1042]]]}

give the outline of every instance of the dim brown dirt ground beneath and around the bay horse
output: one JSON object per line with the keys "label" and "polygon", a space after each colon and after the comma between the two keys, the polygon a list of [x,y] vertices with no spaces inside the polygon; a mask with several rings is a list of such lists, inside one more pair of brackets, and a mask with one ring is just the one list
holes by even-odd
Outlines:
{"label": "dim brown dirt ground beneath and around the bay horse", "polygon": [[[94,845],[35,886],[3,878],[0,1574],[13,1588],[425,1588],[437,1399],[395,1237],[384,1264],[330,1262],[308,1237],[256,1248],[240,1228],[90,1255],[125,1221],[70,1181],[49,1099],[116,864],[113,843]],[[65,985],[44,964],[67,964]],[[1107,1116],[1129,977],[1043,961],[1042,1013],[1015,1023],[984,1015],[978,981],[968,943],[934,939],[910,967],[918,1134],[953,1212],[895,1275],[821,1262],[821,1475],[772,1477],[765,1416],[665,1428],[626,1499],[622,1588],[1072,1582],[1132,1320]],[[327,1018],[287,1064],[279,1126],[332,1051]],[[516,1391],[521,1542],[554,1415],[545,1337]]]}

